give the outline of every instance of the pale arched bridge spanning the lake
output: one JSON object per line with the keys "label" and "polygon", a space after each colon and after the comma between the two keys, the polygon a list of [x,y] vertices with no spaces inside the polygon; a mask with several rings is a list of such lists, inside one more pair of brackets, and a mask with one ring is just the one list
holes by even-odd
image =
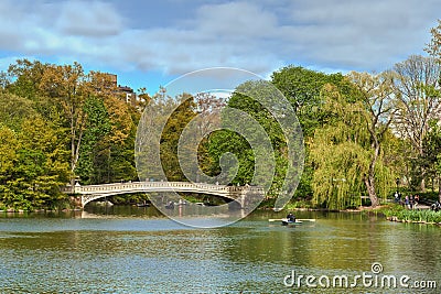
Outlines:
{"label": "pale arched bridge spanning the lake", "polygon": [[256,200],[262,199],[263,188],[258,186],[222,186],[204,183],[189,182],[133,182],[115,183],[103,185],[75,185],[74,189],[65,189],[65,193],[79,194],[77,202],[84,207],[89,202],[114,195],[131,193],[154,193],[154,192],[182,192],[215,195],[227,202],[235,202],[240,208],[247,208]]}

